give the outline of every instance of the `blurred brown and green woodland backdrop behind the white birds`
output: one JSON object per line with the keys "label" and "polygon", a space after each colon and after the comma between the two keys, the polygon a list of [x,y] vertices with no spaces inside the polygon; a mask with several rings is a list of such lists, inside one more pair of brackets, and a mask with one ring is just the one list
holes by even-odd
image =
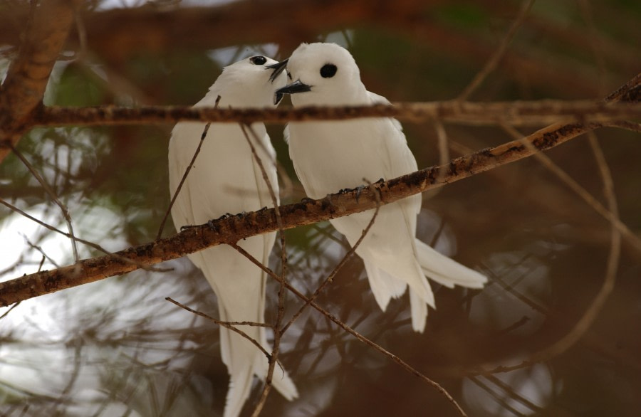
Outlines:
{"label": "blurred brown and green woodland backdrop behind the white birds", "polygon": [[[499,47],[520,1],[88,1],[53,70],[47,105],[191,105],[222,68],[256,53],[286,58],[303,41],[348,48],[369,90],[392,101],[457,97]],[[0,76],[16,54],[28,2],[0,2]],[[598,99],[641,69],[641,3],[537,0],[476,101]],[[288,105],[284,102],[283,105]],[[541,126],[520,127],[524,134]],[[69,208],[81,238],[108,250],[152,241],[169,202],[170,125],[34,129],[19,150]],[[404,123],[419,167],[439,162],[434,124]],[[269,132],[303,198],[283,125]],[[500,127],[446,124],[452,156],[513,139]],[[641,230],[641,141],[596,132],[620,218]],[[605,204],[588,139],[548,152]],[[15,155],[0,197],[64,228],[58,206]],[[174,233],[171,225],[165,236]],[[377,307],[363,264],[349,260],[318,302],[438,381],[470,416],[636,416],[641,408],[641,253],[623,241],[616,283],[577,342],[536,363],[593,306],[605,280],[610,224],[534,158],[424,195],[419,237],[489,276],[482,291],[432,283],[437,310],[412,332],[406,297]],[[329,223],[286,233],[291,283],[310,294],[348,246]],[[280,250],[270,266],[280,270]],[[83,258],[99,255],[80,246]],[[71,244],[0,209],[0,278],[73,262]],[[6,416],[217,416],[228,376],[217,315],[186,258],[21,302],[0,311],[0,413]],[[277,286],[268,289],[267,320]],[[287,315],[299,301],[288,297]],[[387,357],[308,310],[281,360],[298,385],[264,416],[455,416],[452,404]],[[502,371],[500,366],[513,366]],[[258,401],[256,382],[245,412]]]}

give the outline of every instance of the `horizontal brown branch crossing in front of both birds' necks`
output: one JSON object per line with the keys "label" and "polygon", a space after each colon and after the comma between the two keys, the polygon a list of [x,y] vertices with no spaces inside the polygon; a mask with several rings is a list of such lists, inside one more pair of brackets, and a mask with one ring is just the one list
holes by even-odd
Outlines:
{"label": "horizontal brown branch crossing in front of both birds' necks", "polygon": [[641,118],[638,102],[540,100],[522,102],[399,102],[393,106],[303,107],[283,109],[221,109],[214,107],[42,107],[35,125],[123,125],[142,122],[287,122],[355,117],[396,117],[412,122],[444,120],[471,125],[548,125],[563,120],[607,122]]}

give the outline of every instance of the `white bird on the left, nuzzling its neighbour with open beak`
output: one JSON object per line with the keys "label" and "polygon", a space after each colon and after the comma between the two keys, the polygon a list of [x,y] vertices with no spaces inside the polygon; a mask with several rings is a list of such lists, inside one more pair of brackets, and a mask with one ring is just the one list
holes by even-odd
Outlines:
{"label": "white bird on the left, nuzzling its neighbour with open beak", "polygon": [[[286,84],[286,76],[271,78],[269,65],[276,60],[252,56],[224,68],[209,93],[194,107],[275,107],[274,90]],[[169,145],[170,192],[173,196],[185,169],[200,142],[205,124],[180,122],[172,131]],[[260,143],[253,143],[259,154],[273,191],[278,196],[274,152],[263,123],[254,123]],[[251,133],[249,137],[254,141]],[[182,226],[207,223],[226,213],[259,210],[273,206],[269,188],[254,159],[247,139],[237,123],[212,123],[202,149],[172,206],[172,218],[179,231]],[[257,260],[267,265],[275,233],[265,233],[238,244]],[[226,245],[207,248],[188,255],[200,268],[218,297],[220,320],[263,323],[265,309],[265,273],[243,255]],[[267,352],[265,328],[239,327]],[[264,380],[267,374],[265,355],[239,334],[220,328],[221,356],[230,375],[225,417],[239,416],[251,391],[254,375]],[[276,366],[273,386],[288,400],[298,397],[289,376]]]}

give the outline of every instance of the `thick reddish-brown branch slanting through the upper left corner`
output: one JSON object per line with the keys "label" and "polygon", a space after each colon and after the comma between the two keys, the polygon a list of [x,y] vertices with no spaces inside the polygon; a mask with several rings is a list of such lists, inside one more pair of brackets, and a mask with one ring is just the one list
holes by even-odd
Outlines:
{"label": "thick reddish-brown branch slanting through the upper left corner", "polygon": [[[29,117],[41,103],[53,64],[68,36],[74,7],[72,0],[46,0],[36,7],[0,90],[0,144],[15,146],[22,132],[31,127]],[[0,162],[9,150],[0,147]]]}

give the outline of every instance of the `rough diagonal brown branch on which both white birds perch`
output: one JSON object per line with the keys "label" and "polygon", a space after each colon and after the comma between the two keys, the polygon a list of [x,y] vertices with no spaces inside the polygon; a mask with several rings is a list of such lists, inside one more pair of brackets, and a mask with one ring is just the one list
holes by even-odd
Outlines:
{"label": "rough diagonal brown branch on which both white birds perch", "polygon": [[[531,134],[527,140],[536,149],[546,150],[594,127],[597,126],[586,127],[578,123],[553,125]],[[324,199],[281,206],[282,226],[286,229],[293,228],[375,209],[377,204],[390,204],[407,196],[517,161],[531,154],[533,154],[531,147],[527,147],[521,140],[516,140],[453,159],[442,167],[429,167],[389,181],[379,181],[362,191],[350,190],[331,194]],[[444,173],[440,172],[442,169]],[[121,275],[136,270],[141,265],[153,265],[164,260],[179,258],[209,246],[236,243],[249,236],[276,230],[278,230],[278,223],[274,209],[220,218],[210,225],[187,228],[170,238],[121,250],[115,253],[118,258],[107,255],[81,260],[76,265],[25,275],[0,283],[0,307],[113,275]],[[127,263],[124,259],[129,259],[131,262]]]}

